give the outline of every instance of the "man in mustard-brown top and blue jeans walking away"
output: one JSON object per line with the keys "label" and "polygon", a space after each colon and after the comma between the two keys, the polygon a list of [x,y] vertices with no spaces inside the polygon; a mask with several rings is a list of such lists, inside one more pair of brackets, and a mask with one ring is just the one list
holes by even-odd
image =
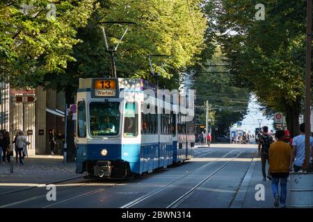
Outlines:
{"label": "man in mustard-brown top and blue jeans walking away", "polygon": [[[275,198],[274,206],[286,207],[287,179],[289,177],[291,146],[284,142],[284,130],[276,133],[278,142],[271,144],[269,148],[269,172],[272,176],[272,191]],[[280,183],[280,194],[278,191]]]}

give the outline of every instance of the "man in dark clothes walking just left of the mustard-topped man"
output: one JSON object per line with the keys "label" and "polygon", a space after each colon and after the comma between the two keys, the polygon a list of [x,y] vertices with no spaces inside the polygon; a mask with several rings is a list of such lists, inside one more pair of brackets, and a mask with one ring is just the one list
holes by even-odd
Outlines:
{"label": "man in dark clothes walking just left of the mustard-topped man", "polygon": [[[271,135],[268,135],[268,127],[263,127],[263,135],[259,137],[259,146],[257,147],[257,151],[259,153],[259,157],[261,157],[262,161],[262,174],[263,174],[263,181],[266,181],[266,160],[268,162],[268,165],[270,164],[268,159],[268,152],[269,148],[273,144],[273,137]],[[271,180],[271,173],[268,171],[267,178]]]}

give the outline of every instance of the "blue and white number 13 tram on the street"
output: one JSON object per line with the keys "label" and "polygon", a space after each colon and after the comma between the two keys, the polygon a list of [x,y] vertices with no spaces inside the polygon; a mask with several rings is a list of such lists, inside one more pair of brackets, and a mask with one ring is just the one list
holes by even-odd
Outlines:
{"label": "blue and white number 13 tram on the street", "polygon": [[[81,78],[77,91],[77,173],[125,178],[193,157],[194,125],[182,114],[142,112],[141,78]],[[119,94],[136,92],[125,102]]]}

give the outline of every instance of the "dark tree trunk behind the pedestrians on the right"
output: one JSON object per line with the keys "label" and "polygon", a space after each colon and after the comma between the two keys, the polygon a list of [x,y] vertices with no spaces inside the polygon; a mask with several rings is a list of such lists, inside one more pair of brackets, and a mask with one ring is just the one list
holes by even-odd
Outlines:
{"label": "dark tree trunk behind the pedestrians on the right", "polygon": [[291,137],[299,135],[300,98],[290,103],[285,102],[287,127]]}

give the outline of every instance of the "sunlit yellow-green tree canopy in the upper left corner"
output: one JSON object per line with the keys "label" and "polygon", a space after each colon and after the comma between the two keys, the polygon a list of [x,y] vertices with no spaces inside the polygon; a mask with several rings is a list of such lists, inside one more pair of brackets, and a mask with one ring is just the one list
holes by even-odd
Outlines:
{"label": "sunlit yellow-green tree canopy in the upper left corner", "polygon": [[[54,3],[54,5],[49,5]],[[86,25],[95,0],[1,1],[0,78],[13,87],[45,85],[74,61],[77,28]],[[56,12],[56,18],[51,17]]]}

